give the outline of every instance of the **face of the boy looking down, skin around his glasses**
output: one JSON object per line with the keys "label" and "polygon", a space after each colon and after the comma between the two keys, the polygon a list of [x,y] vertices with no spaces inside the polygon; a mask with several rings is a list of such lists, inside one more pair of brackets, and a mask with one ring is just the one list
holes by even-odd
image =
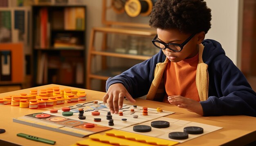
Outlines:
{"label": "face of the boy looking down, skin around his glasses", "polygon": [[[162,42],[182,44],[192,34],[180,33],[177,29],[157,29],[157,35],[158,39]],[[171,62],[180,62],[186,58],[192,58],[198,53],[198,42],[194,36],[180,52],[174,52],[168,48],[162,51]]]}

